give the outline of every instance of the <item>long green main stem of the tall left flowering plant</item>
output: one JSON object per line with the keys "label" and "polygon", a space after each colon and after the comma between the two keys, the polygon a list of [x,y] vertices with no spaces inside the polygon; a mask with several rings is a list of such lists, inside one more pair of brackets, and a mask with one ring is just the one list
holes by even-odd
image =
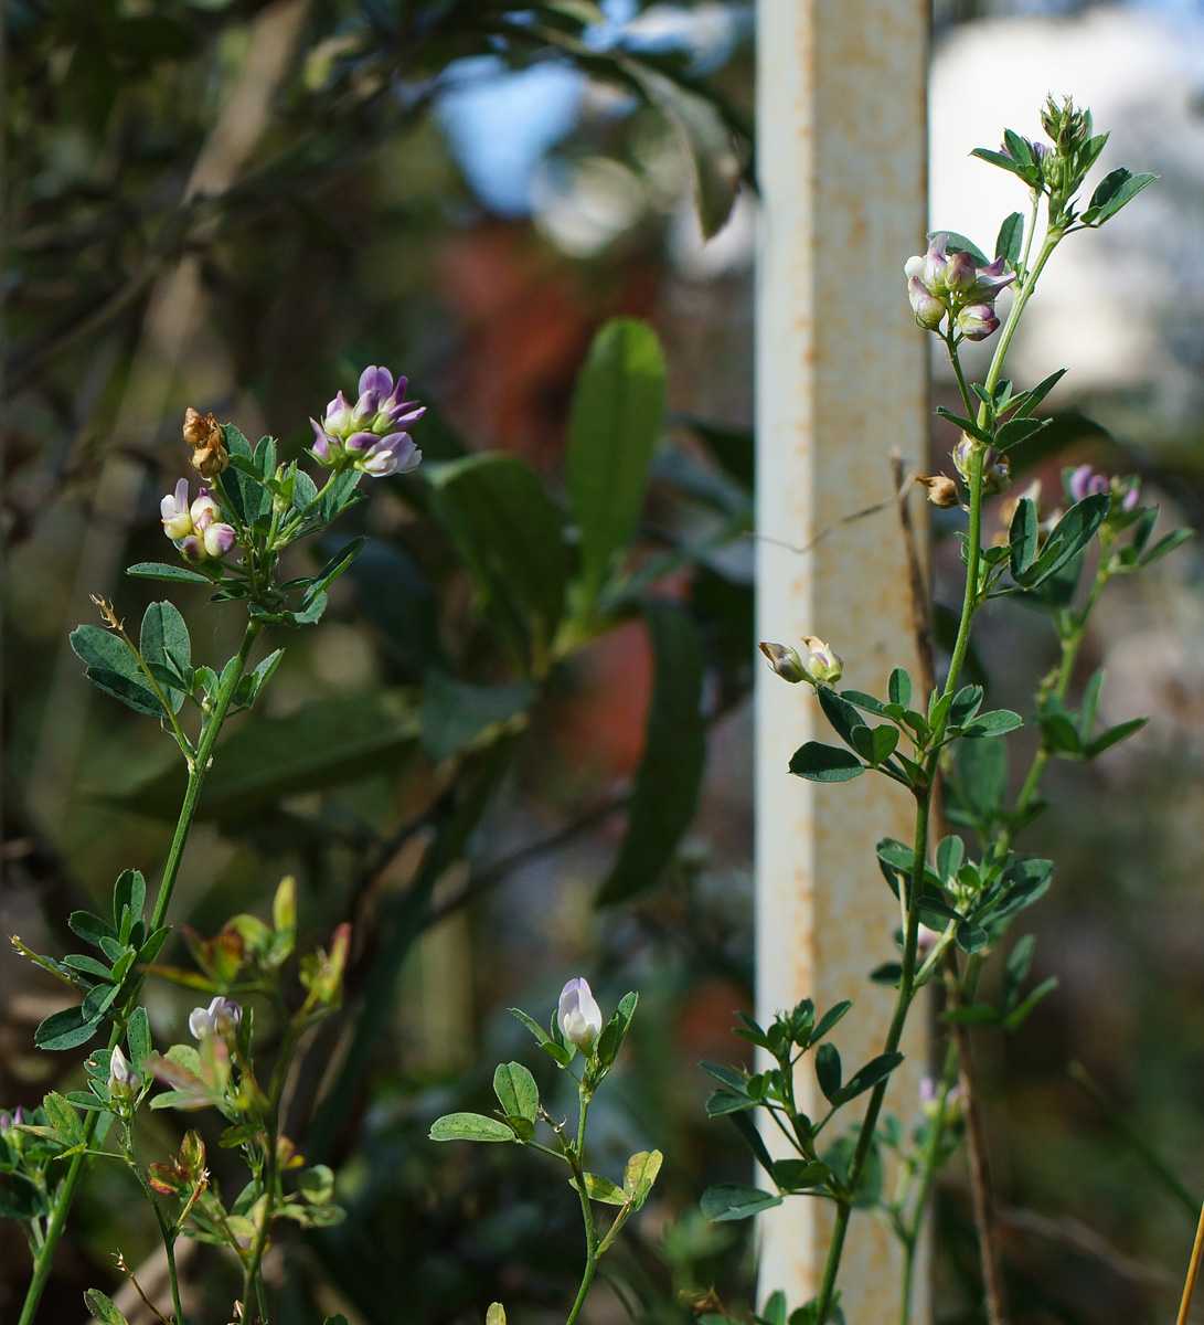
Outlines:
{"label": "long green main stem of the tall left flowering plant", "polygon": [[[155,906],[151,912],[150,924],[147,926],[148,933],[154,933],[163,924],[163,917],[167,913],[167,906],[171,902],[171,894],[176,884],[176,876],[180,872],[180,863],[184,859],[184,845],[188,841],[188,831],[192,828],[192,820],[196,816],[196,807],[200,803],[201,786],[205,780],[205,774],[209,770],[213,745],[217,741],[221,723],[229,712],[230,701],[234,697],[234,689],[242,677],[246,660],[250,656],[252,645],[262,629],[264,627],[258,621],[248,623],[238,652],[223,670],[223,681],[217,692],[217,701],[213,705],[213,712],[209,716],[209,721],[205,723],[204,731],[201,733],[201,738],[196,749],[196,759],[193,761],[192,768],[188,774],[184,803],[180,806],[180,818],[176,822],[176,832],[172,837],[171,849],[167,853],[167,864],[163,867],[163,878],[159,884],[159,893],[155,898]],[[113,1027],[113,1034],[109,1036],[110,1049],[114,1048],[122,1037],[122,1028],[136,1006],[144,978],[146,977],[143,975],[135,980],[128,998],[122,1004],[118,1015],[114,1016],[115,1024]],[[83,1121],[83,1138],[87,1145],[91,1145],[99,1118],[101,1114],[98,1112],[89,1110],[87,1118]],[[41,1301],[42,1293],[46,1288],[46,1280],[50,1277],[50,1264],[54,1260],[54,1249],[58,1246],[58,1239],[62,1236],[68,1212],[72,1208],[72,1202],[75,1199],[75,1189],[78,1187],[79,1178],[83,1174],[85,1158],[86,1157],[82,1151],[72,1157],[72,1165],[68,1169],[68,1175],[64,1178],[62,1187],[60,1187],[58,1196],[54,1200],[50,1222],[46,1226],[45,1240],[33,1263],[33,1277],[29,1281],[29,1289],[25,1293],[25,1305],[21,1308],[21,1317],[17,1325],[33,1325],[34,1313],[37,1312],[38,1302]]]}

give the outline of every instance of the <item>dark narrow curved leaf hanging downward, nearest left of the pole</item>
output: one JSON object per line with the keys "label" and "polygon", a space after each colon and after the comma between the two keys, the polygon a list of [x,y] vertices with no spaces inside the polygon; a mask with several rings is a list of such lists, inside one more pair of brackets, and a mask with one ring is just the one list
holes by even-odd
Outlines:
{"label": "dark narrow curved leaf hanging downward, nearest left of the pole", "polygon": [[652,702],[644,753],[632,787],[627,831],[599,905],[654,886],[694,819],[706,765],[702,645],[689,615],[661,602],[644,606],[652,645]]}

